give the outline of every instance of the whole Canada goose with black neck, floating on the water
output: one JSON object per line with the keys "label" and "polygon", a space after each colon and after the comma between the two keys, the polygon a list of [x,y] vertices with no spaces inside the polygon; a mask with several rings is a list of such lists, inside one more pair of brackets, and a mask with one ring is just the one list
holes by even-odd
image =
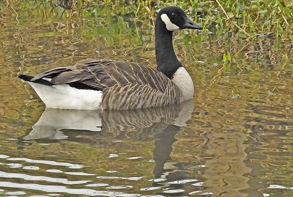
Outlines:
{"label": "whole Canada goose with black neck, floating on the water", "polygon": [[159,11],[155,23],[157,69],[133,62],[87,59],[32,77],[18,77],[33,87],[48,108],[136,109],[164,106],[193,97],[193,82],[177,60],[173,31],[202,29],[175,6]]}

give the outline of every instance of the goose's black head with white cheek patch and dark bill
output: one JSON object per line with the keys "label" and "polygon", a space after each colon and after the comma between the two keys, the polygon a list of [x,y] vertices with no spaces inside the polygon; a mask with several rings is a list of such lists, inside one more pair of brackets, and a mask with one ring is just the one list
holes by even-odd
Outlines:
{"label": "goose's black head with white cheek patch and dark bill", "polygon": [[166,29],[177,31],[180,29],[202,29],[202,26],[195,24],[185,14],[185,12],[176,6],[163,8],[159,11],[156,21],[163,21]]}

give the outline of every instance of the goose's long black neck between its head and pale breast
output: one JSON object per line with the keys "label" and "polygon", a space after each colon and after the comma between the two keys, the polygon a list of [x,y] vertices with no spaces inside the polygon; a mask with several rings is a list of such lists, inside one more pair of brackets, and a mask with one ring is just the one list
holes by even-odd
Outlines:
{"label": "goose's long black neck between its head and pale breast", "polygon": [[172,78],[173,74],[179,67],[182,67],[174,52],[172,38],[173,32],[166,29],[165,23],[158,18],[155,24],[155,48],[157,69],[164,73],[168,78]]}

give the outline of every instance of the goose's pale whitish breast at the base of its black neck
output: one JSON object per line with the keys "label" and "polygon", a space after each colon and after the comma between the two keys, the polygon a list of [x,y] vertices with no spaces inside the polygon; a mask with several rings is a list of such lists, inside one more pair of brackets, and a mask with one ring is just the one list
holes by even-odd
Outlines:
{"label": "goose's pale whitish breast at the base of its black neck", "polygon": [[180,98],[180,102],[189,100],[193,97],[193,81],[185,68],[179,67],[174,73],[172,81],[181,91],[182,96]]}

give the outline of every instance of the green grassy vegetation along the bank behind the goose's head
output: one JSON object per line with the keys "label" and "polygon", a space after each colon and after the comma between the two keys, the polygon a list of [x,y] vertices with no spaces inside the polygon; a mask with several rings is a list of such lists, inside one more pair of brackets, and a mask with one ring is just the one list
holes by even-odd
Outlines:
{"label": "green grassy vegetation along the bank behind the goose's head", "polygon": [[[143,27],[153,27],[160,8],[179,6],[193,21],[204,27],[206,33],[226,33],[251,40],[258,37],[275,39],[293,45],[293,0],[1,0],[0,9],[41,10],[46,18],[97,16],[105,13],[139,18]],[[47,13],[46,13],[47,12]],[[50,21],[50,20],[49,20]],[[209,28],[209,29],[208,29]]]}

